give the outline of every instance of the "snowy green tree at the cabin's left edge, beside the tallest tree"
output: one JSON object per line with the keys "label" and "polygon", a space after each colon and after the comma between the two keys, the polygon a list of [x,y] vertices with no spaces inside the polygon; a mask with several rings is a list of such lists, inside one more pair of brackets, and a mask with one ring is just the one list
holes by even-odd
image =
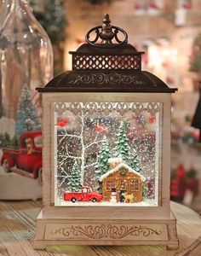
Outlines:
{"label": "snowy green tree at the cabin's left edge, beside the tallest tree", "polygon": [[[100,151],[98,154],[98,163],[97,163],[97,176],[100,178],[103,174],[108,172],[109,170],[109,163],[108,159],[111,157],[111,152],[109,148],[109,144],[106,140],[106,137],[103,138],[103,141],[101,143]],[[98,191],[101,191],[101,183],[99,182],[98,185]]]}

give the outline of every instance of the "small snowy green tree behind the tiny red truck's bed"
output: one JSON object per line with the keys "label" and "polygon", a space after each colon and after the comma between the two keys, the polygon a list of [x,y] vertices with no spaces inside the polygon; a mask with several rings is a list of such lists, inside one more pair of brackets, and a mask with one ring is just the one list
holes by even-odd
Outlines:
{"label": "small snowy green tree behind the tiny red truck's bed", "polygon": [[81,175],[77,161],[72,166],[72,175],[69,177],[67,187],[72,192],[77,192],[82,187]]}

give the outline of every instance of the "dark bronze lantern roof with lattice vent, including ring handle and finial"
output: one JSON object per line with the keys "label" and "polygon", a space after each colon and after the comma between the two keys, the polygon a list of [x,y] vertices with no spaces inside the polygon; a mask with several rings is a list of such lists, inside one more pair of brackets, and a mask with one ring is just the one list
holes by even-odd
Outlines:
{"label": "dark bronze lantern roof with lattice vent, including ring handle and finial", "polygon": [[[111,26],[105,15],[102,26],[95,26],[86,34],[82,44],[72,55],[72,71],[61,73],[40,92],[175,92],[152,73],[141,71],[141,55],[128,44],[127,33]],[[90,39],[95,33],[95,38]],[[119,39],[118,35],[121,35]]]}

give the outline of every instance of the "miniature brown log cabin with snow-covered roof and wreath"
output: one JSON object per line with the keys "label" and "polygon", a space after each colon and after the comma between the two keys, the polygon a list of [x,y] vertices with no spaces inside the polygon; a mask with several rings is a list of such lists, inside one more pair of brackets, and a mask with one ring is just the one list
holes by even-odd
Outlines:
{"label": "miniature brown log cabin with snow-covered roof and wreath", "polygon": [[114,191],[117,202],[142,201],[142,182],[145,177],[123,163],[121,158],[109,159],[108,162],[110,170],[100,177],[103,201],[111,201]]}

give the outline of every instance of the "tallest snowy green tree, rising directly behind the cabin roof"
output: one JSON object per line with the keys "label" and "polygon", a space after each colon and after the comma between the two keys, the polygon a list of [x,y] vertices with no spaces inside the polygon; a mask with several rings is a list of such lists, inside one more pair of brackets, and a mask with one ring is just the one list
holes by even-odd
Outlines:
{"label": "tallest snowy green tree, rising directly behind the cabin roof", "polygon": [[126,137],[128,123],[121,121],[118,131],[118,143],[116,145],[115,157],[121,157],[125,163],[129,162],[129,139]]}

